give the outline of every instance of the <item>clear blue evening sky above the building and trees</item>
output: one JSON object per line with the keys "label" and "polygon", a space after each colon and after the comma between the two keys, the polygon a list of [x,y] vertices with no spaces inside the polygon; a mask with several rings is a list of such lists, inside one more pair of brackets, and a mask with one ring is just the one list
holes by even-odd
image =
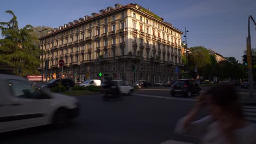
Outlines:
{"label": "clear blue evening sky above the building and trees", "polygon": [[[163,17],[174,27],[187,33],[188,46],[205,46],[224,57],[235,57],[241,61],[246,49],[247,21],[252,15],[256,20],[255,0],[72,0],[72,1],[1,1],[0,21],[9,21],[5,10],[14,11],[19,27],[59,27],[85,15],[98,12],[114,4],[137,3]],[[252,47],[256,48],[256,31],[251,22]],[[184,41],[184,39],[183,39]]]}

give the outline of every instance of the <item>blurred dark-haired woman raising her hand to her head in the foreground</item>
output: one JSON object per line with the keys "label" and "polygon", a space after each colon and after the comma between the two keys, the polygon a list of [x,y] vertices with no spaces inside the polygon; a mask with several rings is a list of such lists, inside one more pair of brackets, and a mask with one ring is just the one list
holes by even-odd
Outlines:
{"label": "blurred dark-haired woman raising her hand to her head in the foreground", "polygon": [[[210,115],[193,122],[204,105]],[[256,143],[255,127],[245,122],[236,89],[226,83],[201,95],[188,115],[179,120],[176,133],[197,137],[201,143]]]}

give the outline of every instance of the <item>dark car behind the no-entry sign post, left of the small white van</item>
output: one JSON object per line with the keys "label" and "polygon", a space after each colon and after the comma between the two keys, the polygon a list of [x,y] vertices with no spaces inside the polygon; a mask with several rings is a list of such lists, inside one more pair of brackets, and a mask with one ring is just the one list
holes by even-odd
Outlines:
{"label": "dark car behind the no-entry sign post, left of the small white van", "polygon": [[[60,84],[60,79],[53,79],[51,81],[49,81],[49,83],[44,83],[42,85],[40,85],[40,87],[56,87],[59,86]],[[61,85],[65,86],[66,89],[69,89],[71,87],[74,87],[75,83],[72,79],[61,79]]]}

